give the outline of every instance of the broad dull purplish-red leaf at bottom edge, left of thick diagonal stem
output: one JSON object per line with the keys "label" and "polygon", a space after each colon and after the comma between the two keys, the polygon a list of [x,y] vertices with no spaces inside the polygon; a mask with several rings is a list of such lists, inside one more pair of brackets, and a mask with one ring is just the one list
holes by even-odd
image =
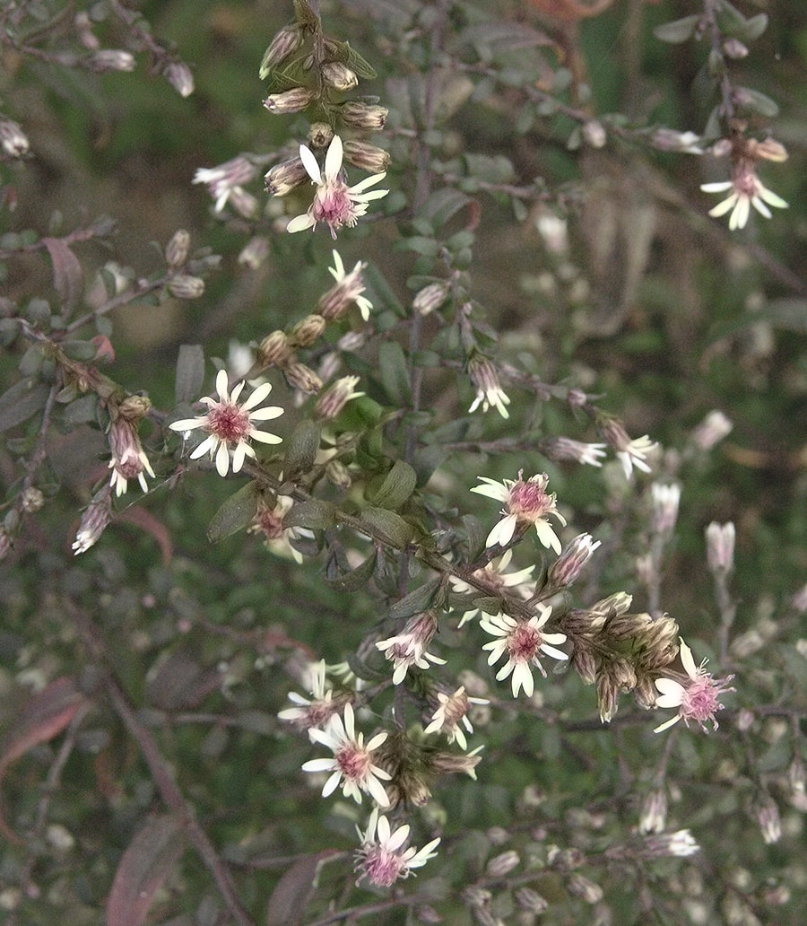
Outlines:
{"label": "broad dull purplish-red leaf at bottom edge, left of thick diagonal stem", "polygon": [[173,817],[146,820],[115,872],[106,901],[106,926],[141,926],[182,850],[181,828]]}

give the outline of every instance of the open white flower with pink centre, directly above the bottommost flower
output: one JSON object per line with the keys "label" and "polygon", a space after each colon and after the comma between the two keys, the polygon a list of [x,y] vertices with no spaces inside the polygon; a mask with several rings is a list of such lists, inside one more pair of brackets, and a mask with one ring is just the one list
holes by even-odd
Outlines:
{"label": "open white flower with pink centre, directly above the bottommost flower", "polygon": [[344,706],[344,720],[334,714],[325,730],[312,729],[311,738],[328,746],[333,758],[312,758],[303,763],[304,771],[330,771],[322,796],[328,797],[341,782],[341,793],[362,802],[362,792],[370,795],[381,807],[389,807],[390,798],[381,782],[389,782],[391,774],[373,764],[373,750],[387,739],[386,732],[377,733],[366,745],[364,733],[355,732],[354,709]]}

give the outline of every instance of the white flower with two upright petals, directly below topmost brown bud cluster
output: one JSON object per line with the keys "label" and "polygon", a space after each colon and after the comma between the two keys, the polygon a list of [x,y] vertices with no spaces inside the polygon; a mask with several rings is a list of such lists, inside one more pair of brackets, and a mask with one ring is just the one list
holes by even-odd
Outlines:
{"label": "white flower with two upright petals, directly below topmost brown bud cluster", "polygon": [[330,236],[336,240],[337,229],[342,225],[353,227],[358,219],[365,215],[367,203],[373,199],[386,196],[389,190],[371,190],[373,186],[386,177],[385,173],[373,174],[365,180],[348,186],[343,179],[341,169],[342,144],[339,135],[334,135],[325,155],[325,169],[321,170],[317,158],[309,147],[300,145],[300,158],[311,180],[317,184],[314,202],[302,216],[292,219],[286,226],[287,232],[303,232],[314,228],[317,222],[325,222],[330,229]]}

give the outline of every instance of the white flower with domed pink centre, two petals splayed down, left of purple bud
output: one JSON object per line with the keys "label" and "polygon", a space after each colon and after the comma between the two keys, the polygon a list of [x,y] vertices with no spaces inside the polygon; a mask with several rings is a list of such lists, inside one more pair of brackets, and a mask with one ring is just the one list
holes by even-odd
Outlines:
{"label": "white flower with domed pink centre, two petals splayed down, left of purple bud", "polygon": [[525,481],[522,472],[523,470],[519,470],[518,479],[515,481],[505,479],[503,482],[496,482],[486,476],[479,476],[479,481],[485,484],[475,485],[471,489],[471,492],[487,495],[506,505],[502,509],[503,519],[488,534],[485,545],[506,546],[513,539],[516,527],[527,530],[529,524],[534,524],[541,544],[551,546],[555,553],[559,554],[561,542],[547,517],[552,515],[564,525],[566,521],[557,509],[554,493],[546,491],[549,476],[546,473],[538,473]]}

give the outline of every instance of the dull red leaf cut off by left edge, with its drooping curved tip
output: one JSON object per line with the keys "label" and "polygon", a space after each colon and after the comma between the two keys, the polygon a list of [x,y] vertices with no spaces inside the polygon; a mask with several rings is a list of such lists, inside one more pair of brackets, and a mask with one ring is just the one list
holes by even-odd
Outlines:
{"label": "dull red leaf cut off by left edge, with its drooping curved tip", "polygon": [[[86,698],[73,679],[64,676],[34,694],[22,709],[17,722],[6,732],[0,746],[0,784],[12,762],[31,749],[62,732],[76,716]],[[19,843],[19,836],[8,829],[0,811],[0,832],[6,839]]]}

